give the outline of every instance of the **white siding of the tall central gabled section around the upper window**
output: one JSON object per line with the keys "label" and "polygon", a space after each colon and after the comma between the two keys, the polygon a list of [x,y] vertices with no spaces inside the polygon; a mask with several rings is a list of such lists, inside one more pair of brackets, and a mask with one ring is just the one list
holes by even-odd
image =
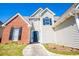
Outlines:
{"label": "white siding of the tall central gabled section around the upper window", "polygon": [[53,43],[55,41],[55,32],[52,29],[52,25],[43,25],[43,18],[45,17],[52,18],[52,25],[54,23],[54,16],[49,12],[44,13],[40,18],[40,43]]}

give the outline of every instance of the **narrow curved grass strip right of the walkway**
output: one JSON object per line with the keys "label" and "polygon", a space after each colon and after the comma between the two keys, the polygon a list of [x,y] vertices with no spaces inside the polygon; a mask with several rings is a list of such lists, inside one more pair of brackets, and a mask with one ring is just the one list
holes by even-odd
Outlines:
{"label": "narrow curved grass strip right of the walkway", "polygon": [[78,55],[79,56],[79,52],[73,52],[73,51],[68,52],[68,51],[62,51],[62,50],[58,51],[56,49],[49,48],[48,44],[44,44],[44,47],[52,53],[61,54],[61,55],[76,55],[76,56]]}

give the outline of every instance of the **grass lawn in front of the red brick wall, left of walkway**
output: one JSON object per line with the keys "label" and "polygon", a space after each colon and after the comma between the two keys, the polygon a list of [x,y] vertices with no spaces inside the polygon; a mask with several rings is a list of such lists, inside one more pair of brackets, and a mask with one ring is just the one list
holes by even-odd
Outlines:
{"label": "grass lawn in front of the red brick wall, left of walkway", "polygon": [[0,56],[22,56],[26,45],[17,43],[0,44]]}

